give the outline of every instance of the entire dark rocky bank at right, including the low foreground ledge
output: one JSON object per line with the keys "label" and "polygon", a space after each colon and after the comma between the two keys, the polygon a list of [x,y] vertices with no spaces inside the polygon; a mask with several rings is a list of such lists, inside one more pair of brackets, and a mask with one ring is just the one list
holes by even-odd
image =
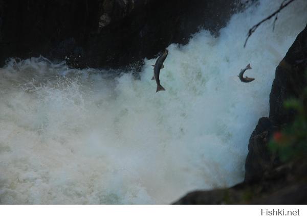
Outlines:
{"label": "entire dark rocky bank at right, including the low foreground ledge", "polygon": [[282,162],[268,148],[274,131],[291,124],[295,113],[283,108],[307,86],[307,26],[276,68],[270,93],[270,115],[253,131],[243,183],[226,189],[195,191],[175,204],[307,204],[307,161]]}

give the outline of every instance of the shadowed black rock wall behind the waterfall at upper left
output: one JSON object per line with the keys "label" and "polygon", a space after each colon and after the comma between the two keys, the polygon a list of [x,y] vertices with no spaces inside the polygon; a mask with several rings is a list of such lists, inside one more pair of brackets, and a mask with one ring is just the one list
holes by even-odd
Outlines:
{"label": "shadowed black rock wall behind the waterfall at upper left", "polygon": [[118,68],[226,25],[235,0],[0,0],[0,66],[43,55]]}

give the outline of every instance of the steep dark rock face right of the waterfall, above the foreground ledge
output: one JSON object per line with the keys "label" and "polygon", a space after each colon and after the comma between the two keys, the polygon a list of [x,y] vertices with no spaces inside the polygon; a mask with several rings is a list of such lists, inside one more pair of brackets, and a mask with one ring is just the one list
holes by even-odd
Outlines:
{"label": "steep dark rock face right of the waterfall, above the foreground ledge", "polygon": [[249,141],[249,153],[245,163],[245,181],[261,179],[266,172],[280,165],[276,156],[268,149],[272,132],[291,123],[295,112],[284,109],[283,103],[290,98],[298,98],[306,87],[307,68],[307,26],[297,36],[288,53],[275,71],[270,93],[270,116],[260,118]]}

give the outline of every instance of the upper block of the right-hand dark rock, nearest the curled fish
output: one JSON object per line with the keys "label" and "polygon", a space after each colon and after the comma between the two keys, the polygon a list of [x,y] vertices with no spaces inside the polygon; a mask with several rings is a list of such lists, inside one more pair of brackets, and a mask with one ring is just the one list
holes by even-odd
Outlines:
{"label": "upper block of the right-hand dark rock, nearest the curled fish", "polygon": [[283,102],[297,98],[307,85],[307,27],[297,36],[286,57],[276,68],[275,79],[270,93],[270,118],[275,124],[289,123],[294,112],[284,110]]}

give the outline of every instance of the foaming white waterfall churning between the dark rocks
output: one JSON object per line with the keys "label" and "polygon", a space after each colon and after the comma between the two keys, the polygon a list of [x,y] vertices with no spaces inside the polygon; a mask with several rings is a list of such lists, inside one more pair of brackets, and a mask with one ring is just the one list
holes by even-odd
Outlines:
{"label": "foaming white waterfall churning between the dark rocks", "polygon": [[[167,204],[191,190],[244,179],[249,137],[269,113],[275,68],[307,22],[298,0],[232,16],[171,44],[156,93],[155,60],[133,72],[69,69],[45,58],[0,68],[0,203]],[[242,83],[237,75],[251,63]]]}

